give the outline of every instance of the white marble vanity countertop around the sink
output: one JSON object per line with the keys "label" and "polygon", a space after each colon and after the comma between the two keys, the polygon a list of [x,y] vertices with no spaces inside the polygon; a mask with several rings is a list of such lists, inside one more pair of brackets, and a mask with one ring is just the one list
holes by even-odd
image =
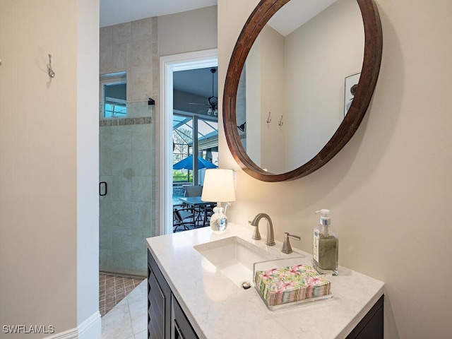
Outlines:
{"label": "white marble vanity countertop around the sink", "polygon": [[[265,233],[265,231],[264,231]],[[333,298],[270,311],[253,287],[243,290],[215,272],[196,249],[227,237],[241,237],[278,258],[311,254],[294,247],[283,254],[281,242],[266,246],[252,240],[251,227],[229,224],[222,234],[210,227],[146,239],[148,248],[200,339],[345,338],[383,295],[384,283],[340,267],[333,277]]]}

